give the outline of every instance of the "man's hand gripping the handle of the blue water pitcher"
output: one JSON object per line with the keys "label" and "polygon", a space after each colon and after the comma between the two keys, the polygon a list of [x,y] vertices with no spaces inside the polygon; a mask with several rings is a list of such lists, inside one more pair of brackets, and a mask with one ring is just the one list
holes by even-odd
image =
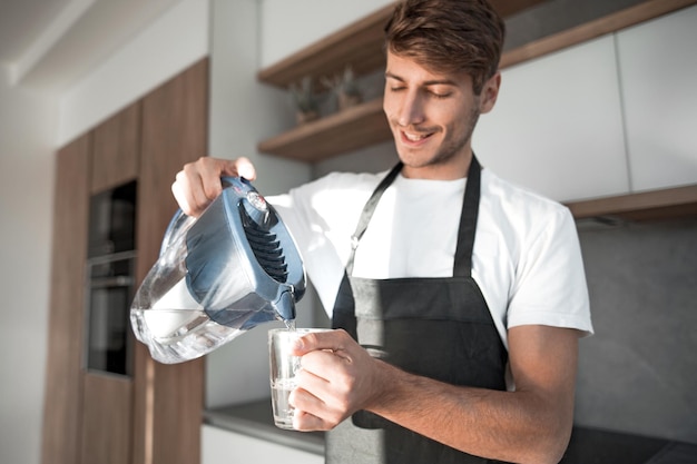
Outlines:
{"label": "man's hand gripping the handle of the blue water pitcher", "polygon": [[171,185],[171,192],[179,208],[187,216],[198,217],[223,191],[220,177],[256,178],[254,165],[247,158],[220,159],[202,157],[184,165]]}

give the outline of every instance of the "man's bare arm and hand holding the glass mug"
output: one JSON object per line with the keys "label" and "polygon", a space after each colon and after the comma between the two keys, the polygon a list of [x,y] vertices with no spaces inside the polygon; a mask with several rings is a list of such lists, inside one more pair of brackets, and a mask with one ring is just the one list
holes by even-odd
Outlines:
{"label": "man's bare arm and hand holding the glass mug", "polygon": [[300,411],[296,428],[331,430],[366,409],[469,454],[514,463],[561,460],[573,421],[577,330],[511,328],[514,392],[408,374],[371,358],[343,332],[318,335],[298,349],[308,354],[291,398]]}

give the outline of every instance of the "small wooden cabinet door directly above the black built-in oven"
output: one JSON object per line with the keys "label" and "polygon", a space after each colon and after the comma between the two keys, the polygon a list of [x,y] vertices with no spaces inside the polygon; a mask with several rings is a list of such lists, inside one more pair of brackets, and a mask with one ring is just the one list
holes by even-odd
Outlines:
{"label": "small wooden cabinet door directly above the black built-in oven", "polygon": [[117,112],[94,129],[91,191],[138,177],[140,102]]}

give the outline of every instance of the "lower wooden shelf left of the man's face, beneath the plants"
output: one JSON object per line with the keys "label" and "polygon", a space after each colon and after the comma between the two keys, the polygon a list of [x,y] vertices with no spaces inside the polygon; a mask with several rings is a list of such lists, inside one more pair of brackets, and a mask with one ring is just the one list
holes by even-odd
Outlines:
{"label": "lower wooden shelf left of the man's face, beneath the plants", "polygon": [[258,150],[314,162],[390,139],[392,132],[379,98],[264,140]]}

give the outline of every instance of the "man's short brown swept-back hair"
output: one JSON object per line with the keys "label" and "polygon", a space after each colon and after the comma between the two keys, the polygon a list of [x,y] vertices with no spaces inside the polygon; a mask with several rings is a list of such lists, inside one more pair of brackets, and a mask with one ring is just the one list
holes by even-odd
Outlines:
{"label": "man's short brown swept-back hair", "polygon": [[385,26],[386,49],[435,72],[467,72],[474,93],[499,68],[505,24],[487,0],[403,0]]}

